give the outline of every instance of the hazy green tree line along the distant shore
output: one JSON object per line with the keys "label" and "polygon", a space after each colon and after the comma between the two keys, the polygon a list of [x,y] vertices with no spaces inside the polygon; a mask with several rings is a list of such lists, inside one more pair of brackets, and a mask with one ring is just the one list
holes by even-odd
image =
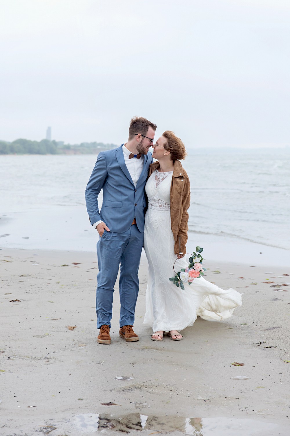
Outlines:
{"label": "hazy green tree line along the distant shore", "polygon": [[116,148],[115,144],[102,142],[83,142],[80,144],[64,144],[60,141],[30,141],[17,139],[13,142],[0,141],[0,154],[94,154],[100,150]]}

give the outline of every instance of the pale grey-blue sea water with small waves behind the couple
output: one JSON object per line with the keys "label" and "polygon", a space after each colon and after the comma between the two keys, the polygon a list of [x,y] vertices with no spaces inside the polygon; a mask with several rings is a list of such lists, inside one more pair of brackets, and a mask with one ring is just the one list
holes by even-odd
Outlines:
{"label": "pale grey-blue sea water with small waves behind the couple", "polygon": [[[95,155],[0,156],[0,247],[95,251]],[[189,240],[207,259],[290,265],[290,150],[189,150]],[[101,202],[101,195],[100,195]]]}

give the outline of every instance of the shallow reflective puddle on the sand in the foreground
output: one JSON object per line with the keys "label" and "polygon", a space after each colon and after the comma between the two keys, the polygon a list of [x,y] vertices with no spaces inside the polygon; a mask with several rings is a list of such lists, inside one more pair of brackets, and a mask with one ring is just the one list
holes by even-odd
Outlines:
{"label": "shallow reflective puddle on the sand in the foreground", "polygon": [[74,429],[84,433],[107,429],[109,432],[121,433],[148,430],[157,433],[179,431],[193,436],[245,436],[246,434],[250,436],[263,431],[263,435],[267,436],[274,434],[272,432],[279,433],[281,430],[281,427],[276,424],[246,418],[183,418],[180,416],[147,416],[140,415],[140,413],[129,413],[123,416],[109,413],[87,413],[73,416],[70,423]]}

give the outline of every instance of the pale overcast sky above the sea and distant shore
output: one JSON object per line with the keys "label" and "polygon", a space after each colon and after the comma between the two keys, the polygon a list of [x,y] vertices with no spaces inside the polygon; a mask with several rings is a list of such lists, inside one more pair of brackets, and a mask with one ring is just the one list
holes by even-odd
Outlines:
{"label": "pale overcast sky above the sea and distant shore", "polygon": [[0,0],[0,140],[290,145],[289,0]]}

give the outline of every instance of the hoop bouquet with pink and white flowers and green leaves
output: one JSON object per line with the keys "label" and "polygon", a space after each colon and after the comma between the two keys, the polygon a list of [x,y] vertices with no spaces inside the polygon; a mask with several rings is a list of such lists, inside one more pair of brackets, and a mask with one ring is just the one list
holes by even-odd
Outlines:
{"label": "hoop bouquet with pink and white flowers and green leaves", "polygon": [[[195,252],[190,256],[188,259],[188,267],[187,268],[181,268],[180,271],[176,272],[174,269],[175,262],[173,264],[173,271],[175,272],[176,276],[170,277],[170,282],[173,282],[174,285],[177,287],[180,286],[182,290],[184,290],[183,283],[188,283],[191,285],[194,279],[199,278],[204,275],[204,271],[206,271],[206,268],[203,268],[203,257],[200,253],[203,252],[203,248],[199,247],[197,245]],[[187,253],[186,253],[187,254]]]}

